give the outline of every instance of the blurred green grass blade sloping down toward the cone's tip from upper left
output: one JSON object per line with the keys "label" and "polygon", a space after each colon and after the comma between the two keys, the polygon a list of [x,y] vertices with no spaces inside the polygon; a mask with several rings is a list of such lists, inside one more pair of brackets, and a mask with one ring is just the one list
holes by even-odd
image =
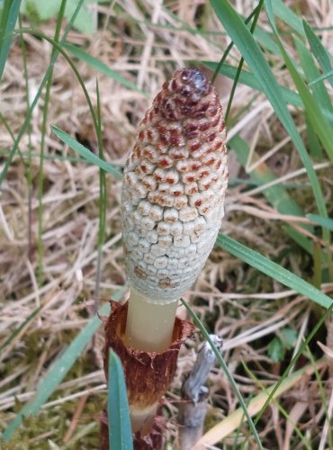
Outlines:
{"label": "blurred green grass blade sloping down toward the cone's tip from upper left", "polygon": [[99,61],[98,59],[92,57],[89,55],[89,53],[86,53],[85,50],[80,49],[76,45],[65,43],[63,45],[65,49],[70,51],[73,56],[75,56],[78,59],[81,59],[81,61],[84,61],[86,64],[89,64],[89,66],[94,67],[94,69],[98,70],[98,72],[101,72],[102,74],[109,76],[117,83],[124,85],[128,87],[132,91],[137,91],[140,94],[148,95],[146,92],[142,91],[142,89],[139,89],[137,85],[134,85],[134,83],[131,83],[130,80],[125,78],[124,76],[121,76],[118,72],[115,70],[112,70],[112,68],[106,66],[102,61]]}

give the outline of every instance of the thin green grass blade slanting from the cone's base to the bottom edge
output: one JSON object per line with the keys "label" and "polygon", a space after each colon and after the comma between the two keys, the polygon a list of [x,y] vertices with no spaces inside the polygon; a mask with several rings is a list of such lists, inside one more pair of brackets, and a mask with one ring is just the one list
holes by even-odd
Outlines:
{"label": "thin green grass blade slanting from the cone's base to the bottom edge", "polygon": [[193,309],[191,308],[191,306],[187,303],[184,302],[183,299],[181,299],[181,302],[183,303],[184,307],[186,308],[186,310],[190,313],[194,324],[198,327],[198,329],[201,330],[202,332],[202,336],[203,338],[205,338],[205,340],[209,343],[209,345],[211,346],[211,350],[214,352],[214,355],[216,357],[216,360],[218,361],[218,363],[220,364],[220,367],[222,368],[224,374],[226,374],[229,383],[233,389],[233,391],[235,392],[238,401],[240,403],[241,409],[243,410],[243,414],[244,416],[247,418],[247,422],[248,422],[248,427],[251,429],[252,435],[253,437],[255,437],[256,442],[257,442],[257,446],[260,449],[263,449],[263,446],[261,445],[260,442],[260,438],[258,437],[257,434],[257,429],[253,423],[253,420],[251,419],[250,415],[248,414],[248,410],[247,410],[247,404],[246,402],[243,400],[243,397],[241,395],[241,393],[238,390],[238,386],[235,383],[235,380],[233,379],[232,375],[229,372],[228,366],[226,365],[224,359],[222,358],[219,349],[214,345],[214,343],[211,340],[211,337],[208,333],[208,331],[204,328],[202,321],[198,318],[198,316],[195,314],[195,312],[193,311]]}

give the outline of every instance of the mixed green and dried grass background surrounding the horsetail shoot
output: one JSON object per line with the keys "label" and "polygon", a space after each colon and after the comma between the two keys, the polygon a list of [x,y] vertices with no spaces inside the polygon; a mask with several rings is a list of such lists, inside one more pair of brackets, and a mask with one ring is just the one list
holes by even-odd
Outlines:
{"label": "mixed green and dried grass background surrounding the horsetail shoot", "polygon": [[[0,3],[3,448],[99,446],[106,388],[95,312],[126,292],[121,167],[152,98],[186,65],[220,92],[230,180],[217,246],[184,300],[224,339],[258,434],[219,365],[206,442],[332,447],[333,5],[51,4]],[[169,448],[201,342],[197,333],[183,348],[166,395]]]}

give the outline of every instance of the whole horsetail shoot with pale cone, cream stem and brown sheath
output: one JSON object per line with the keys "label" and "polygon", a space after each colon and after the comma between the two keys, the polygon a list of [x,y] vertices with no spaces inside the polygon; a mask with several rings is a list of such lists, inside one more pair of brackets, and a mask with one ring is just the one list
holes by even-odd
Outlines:
{"label": "whole horsetail shoot with pale cone, cream stem and brown sheath", "polygon": [[188,67],[157,94],[126,162],[121,210],[130,299],[125,310],[114,305],[105,334],[106,347],[124,366],[132,429],[143,434],[193,330],[175,313],[220,229],[228,184],[225,140],[215,88]]}

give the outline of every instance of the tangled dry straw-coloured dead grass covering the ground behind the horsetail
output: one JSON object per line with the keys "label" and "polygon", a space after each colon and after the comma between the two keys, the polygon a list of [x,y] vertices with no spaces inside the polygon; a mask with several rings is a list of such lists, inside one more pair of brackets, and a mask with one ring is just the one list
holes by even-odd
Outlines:
{"label": "tangled dry straw-coloured dead grass covering the ground behind the horsetail", "polygon": [[[235,4],[242,14],[249,14],[253,7],[253,2],[249,1],[237,0]],[[103,144],[106,158],[113,163],[123,163],[139,120],[160,85],[173,73],[175,67],[184,67],[193,60],[219,60],[221,48],[224,49],[228,43],[228,38],[222,34],[201,36],[186,31],[184,24],[195,29],[198,21],[202,21],[201,24],[208,30],[220,30],[220,24],[203,1],[169,1],[166,6],[175,17],[166,14],[160,1],[143,0],[138,4],[134,0],[126,0],[121,3],[121,9],[102,4],[98,6],[99,13],[110,18],[110,26],[96,31],[94,36],[83,36],[76,31],[69,34],[69,41],[84,45],[94,58],[121,72],[148,93],[146,98],[115,83],[111,78],[96,73],[85,63],[77,62],[77,69],[85,80],[93,103],[96,102],[95,80],[98,78]],[[198,18],[196,14],[200,8],[205,11]],[[304,1],[302,11],[317,27],[332,24],[333,11],[329,0]],[[145,23],[147,19],[152,24]],[[265,18],[262,25],[266,26]],[[182,26],[179,31],[168,28]],[[43,30],[50,35],[54,27],[53,21],[42,25]],[[51,49],[49,44],[29,35],[25,35],[24,39],[27,45],[29,88],[32,97],[48,67]],[[331,31],[325,31],[322,39],[328,49],[333,48]],[[229,59],[235,61],[237,58],[238,51],[233,49]],[[230,81],[220,76],[216,85],[220,90],[221,102],[226,105]],[[250,89],[239,86],[234,111],[237,112],[238,108],[247,104],[250,98]],[[30,133],[26,133],[20,146],[23,153],[31,148],[32,153],[36,154],[36,157],[31,159],[31,218],[29,186],[19,157],[15,157],[0,193],[1,338],[7,338],[14,329],[23,324],[32,311],[41,306],[36,318],[21,329],[0,356],[0,428],[13,419],[18,402],[31,399],[49,365],[92,316],[94,301],[98,300],[101,304],[121,287],[126,279],[122,264],[119,218],[121,183],[111,175],[107,176],[107,239],[103,246],[101,298],[94,299],[97,275],[98,169],[82,162],[71,163],[68,159],[58,159],[58,156],[67,158],[76,155],[70,149],[64,148],[49,132],[49,158],[44,164],[43,279],[42,284],[38,284],[36,184],[40,164],[38,154],[42,104],[43,99],[32,115]],[[18,40],[14,42],[5,68],[0,107],[16,135],[26,112],[22,49]],[[282,153],[280,146],[276,145],[271,115],[269,105],[264,97],[259,95],[251,108],[242,115],[240,125],[229,130],[229,136],[241,129],[243,136],[249,139],[251,148],[262,148],[264,142],[266,147],[261,153],[263,157],[259,163],[266,160],[268,166],[275,169],[281,183],[293,177],[300,181],[302,169],[298,164],[293,166],[293,155]],[[48,120],[49,124],[57,124],[94,152],[97,151],[94,128],[84,94],[63,58],[58,58],[55,67]],[[0,148],[7,152],[11,146],[12,139],[3,124],[0,124]],[[249,163],[248,171],[253,168]],[[233,163],[231,171],[234,176],[245,175],[236,162]],[[229,189],[224,232],[245,240],[250,247],[256,247],[267,257],[273,258],[285,253],[282,264],[291,266],[295,273],[301,275],[307,261],[297,252],[290,253],[291,243],[286,240],[281,230],[281,224],[285,221],[290,224],[295,218],[281,217],[272,210],[261,195],[262,187],[247,192],[246,195],[242,193],[241,187]],[[327,286],[328,291],[331,289],[331,285]],[[303,302],[300,296],[286,291],[265,276],[258,275],[217,248],[193,290],[187,293],[186,300],[192,302],[194,310],[206,327],[225,340],[224,358],[238,382],[240,392],[245,396],[255,395],[259,388],[244,372],[240,360],[269,386],[278,379],[284,364],[272,362],[267,356],[267,344],[279,330],[290,327],[296,329],[299,335],[297,349],[305,333],[302,324],[313,319],[307,303]],[[179,313],[182,315],[184,311]],[[177,435],[175,418],[181,380],[193,365],[195,349],[200,340],[200,336],[196,335],[188,342],[187,347],[184,347],[172,392],[166,396],[166,412],[171,418],[167,436],[170,442],[174,442],[172,446],[175,446]],[[102,346],[103,338],[99,335],[94,343],[85,349],[85,355],[76,363],[66,382],[59,386],[56,395],[44,405],[46,416],[40,419],[40,424],[31,425],[36,434],[32,437],[26,432],[26,435],[29,435],[26,440],[29,448],[46,448],[47,438],[49,442],[63,447],[63,441],[68,442],[77,432],[82,432],[86,424],[94,421],[105,395]],[[238,402],[220,368],[215,368],[211,373],[210,385],[209,426],[238,407]],[[320,401],[316,383],[308,380],[308,383],[304,382],[296,386],[293,392],[289,392],[283,402],[287,411],[289,408],[289,414],[294,421],[304,415],[307,417],[300,426],[305,432],[306,428],[313,431],[319,427],[323,417]],[[41,431],[41,427],[45,425],[57,431],[46,436]],[[263,443],[271,448],[290,448],[293,429],[287,432],[284,426],[285,422],[277,407],[272,406],[260,422],[260,437]],[[288,442],[284,436],[289,437]],[[78,442],[81,444],[76,442],[75,448],[97,448],[97,427]]]}

